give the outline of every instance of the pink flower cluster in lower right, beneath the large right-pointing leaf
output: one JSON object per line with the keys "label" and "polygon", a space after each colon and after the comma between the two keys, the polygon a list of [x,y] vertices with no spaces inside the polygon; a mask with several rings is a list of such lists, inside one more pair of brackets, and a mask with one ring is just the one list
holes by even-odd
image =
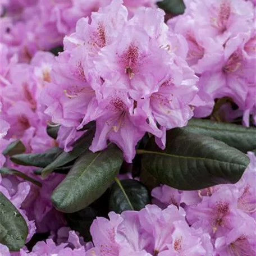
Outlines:
{"label": "pink flower cluster in lower right, beneath the large right-pointing leaf", "polygon": [[256,157],[252,152],[248,156],[250,165],[234,185],[199,191],[180,191],[163,185],[152,190],[154,203],[163,208],[171,204],[184,209],[191,228],[200,228],[211,236],[216,254],[209,255],[256,253]]}

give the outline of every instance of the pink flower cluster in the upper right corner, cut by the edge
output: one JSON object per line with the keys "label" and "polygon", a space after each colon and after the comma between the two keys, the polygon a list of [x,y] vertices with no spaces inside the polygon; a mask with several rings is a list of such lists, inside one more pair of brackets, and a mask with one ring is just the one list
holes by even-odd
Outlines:
{"label": "pink flower cluster in the upper right corner, cut by the edge", "polygon": [[196,117],[211,114],[214,99],[230,97],[249,126],[256,121],[255,7],[243,0],[185,1],[184,15],[168,21],[175,33],[185,36],[186,60],[199,79],[199,96],[206,106],[195,109]]}

